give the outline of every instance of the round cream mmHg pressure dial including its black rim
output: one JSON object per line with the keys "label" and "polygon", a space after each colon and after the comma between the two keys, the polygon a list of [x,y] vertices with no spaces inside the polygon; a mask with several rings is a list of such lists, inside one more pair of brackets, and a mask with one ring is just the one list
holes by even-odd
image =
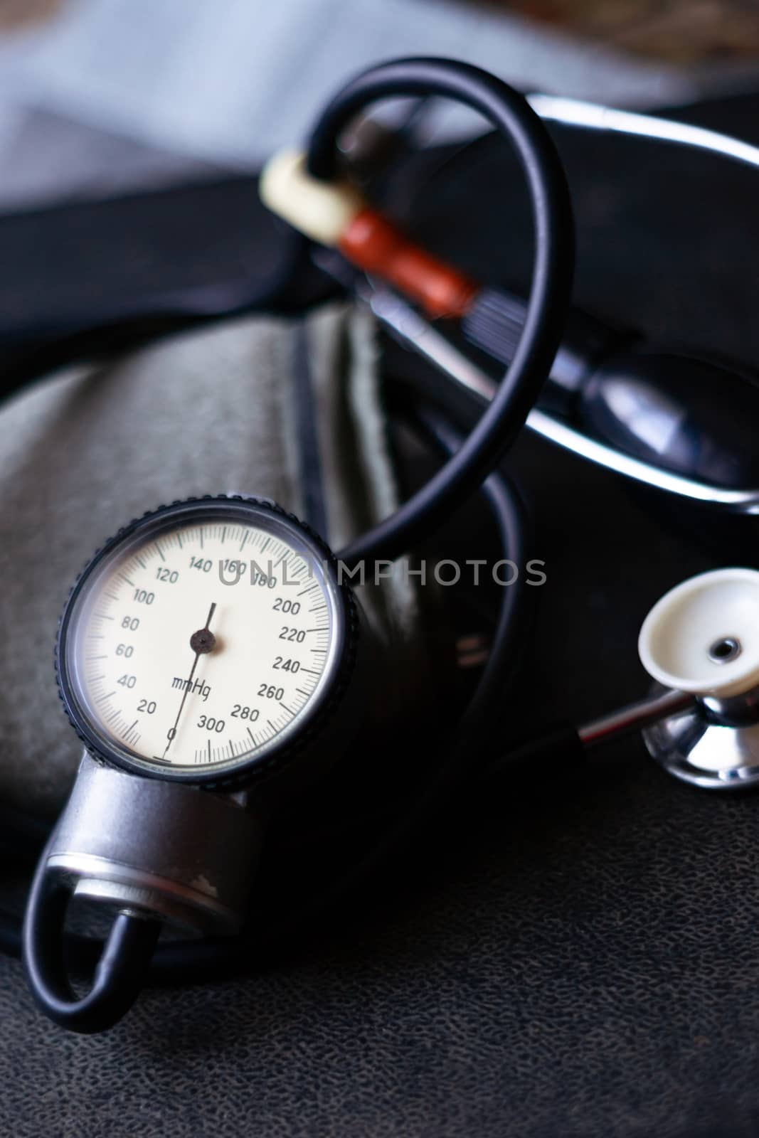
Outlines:
{"label": "round cream mmHg pressure dial including its black rim", "polygon": [[105,758],[203,781],[291,742],[329,694],[345,626],[336,571],[296,522],[265,503],[181,503],[83,574],[61,692]]}

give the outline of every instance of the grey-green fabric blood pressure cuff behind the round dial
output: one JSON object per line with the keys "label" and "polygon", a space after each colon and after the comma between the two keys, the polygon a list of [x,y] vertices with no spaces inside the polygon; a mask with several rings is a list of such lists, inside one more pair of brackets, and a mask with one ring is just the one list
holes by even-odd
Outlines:
{"label": "grey-green fabric blood pressure cuff behind the round dial", "polygon": [[[52,646],[85,560],[146,510],[203,494],[270,497],[341,545],[397,489],[371,319],[329,305],[158,341],[39,382],[0,412],[0,801],[63,805],[79,744]],[[404,566],[360,592],[416,700],[427,684],[421,594]]]}

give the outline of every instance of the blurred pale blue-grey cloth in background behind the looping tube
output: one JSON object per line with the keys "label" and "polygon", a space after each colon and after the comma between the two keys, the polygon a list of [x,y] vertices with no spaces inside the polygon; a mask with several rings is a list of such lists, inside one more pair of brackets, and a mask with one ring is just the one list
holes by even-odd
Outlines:
{"label": "blurred pale blue-grey cloth in background behind the looping tube", "polygon": [[[687,102],[719,82],[719,73],[622,56],[476,0],[67,0],[57,18],[0,40],[0,172],[3,155],[17,154],[24,108],[185,158],[257,166],[302,139],[349,75],[401,55],[453,56],[523,90],[624,106]],[[439,133],[475,122],[448,112]],[[84,181],[75,150],[77,159]],[[58,163],[59,183],[76,176]],[[27,193],[41,196],[33,185]]]}

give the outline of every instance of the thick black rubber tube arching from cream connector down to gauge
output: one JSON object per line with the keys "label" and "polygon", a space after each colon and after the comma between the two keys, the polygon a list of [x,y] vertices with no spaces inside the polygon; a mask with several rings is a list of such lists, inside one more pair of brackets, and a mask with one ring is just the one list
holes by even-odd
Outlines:
{"label": "thick black rubber tube arching from cream connector down to gauge", "polygon": [[459,451],[389,518],[340,560],[394,559],[428,537],[495,469],[521,430],[551,371],[564,327],[575,262],[575,228],[563,167],[543,122],[521,94],[488,72],[452,59],[399,59],[357,75],[313,129],[310,172],[338,172],[337,140],[353,116],[378,99],[443,96],[478,110],[510,141],[529,190],[535,263],[521,338],[489,407]]}

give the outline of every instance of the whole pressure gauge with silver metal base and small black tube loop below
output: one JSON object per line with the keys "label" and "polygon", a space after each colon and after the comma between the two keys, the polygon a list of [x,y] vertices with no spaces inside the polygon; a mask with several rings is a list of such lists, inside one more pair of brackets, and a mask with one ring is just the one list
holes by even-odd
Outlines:
{"label": "whole pressure gauge with silver metal base and small black tube loop below", "polygon": [[[24,934],[52,1019],[115,1022],[164,923],[240,929],[267,814],[339,758],[362,719],[365,628],[340,570],[296,519],[240,497],[163,506],[84,569],[56,665],[85,753]],[[72,896],[117,914],[81,998],[63,953]]]}

